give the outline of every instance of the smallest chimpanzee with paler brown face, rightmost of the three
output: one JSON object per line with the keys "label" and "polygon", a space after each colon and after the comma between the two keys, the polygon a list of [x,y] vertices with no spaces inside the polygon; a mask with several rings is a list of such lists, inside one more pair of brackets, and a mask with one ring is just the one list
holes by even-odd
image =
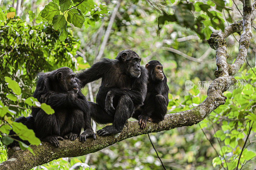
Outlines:
{"label": "smallest chimpanzee with paler brown face, rightmost of the three", "polygon": [[145,67],[148,70],[147,95],[143,106],[132,116],[139,120],[140,129],[145,128],[147,121],[160,122],[164,120],[169,103],[169,87],[162,64],[157,60],[152,60]]}

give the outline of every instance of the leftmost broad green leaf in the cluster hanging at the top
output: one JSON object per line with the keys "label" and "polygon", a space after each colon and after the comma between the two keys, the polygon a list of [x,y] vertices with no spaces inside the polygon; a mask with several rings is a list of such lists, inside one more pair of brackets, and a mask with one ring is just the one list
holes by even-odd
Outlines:
{"label": "leftmost broad green leaf in the cluster hanging at the top", "polygon": [[59,6],[54,2],[50,2],[48,5],[45,5],[41,17],[52,21],[52,18],[57,14],[60,14]]}

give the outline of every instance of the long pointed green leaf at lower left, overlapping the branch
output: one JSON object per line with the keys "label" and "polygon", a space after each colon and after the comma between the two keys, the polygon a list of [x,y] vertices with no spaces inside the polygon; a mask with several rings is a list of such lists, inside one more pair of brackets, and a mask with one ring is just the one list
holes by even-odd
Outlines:
{"label": "long pointed green leaf at lower left, overlapping the branch", "polygon": [[32,129],[20,122],[11,122],[12,130],[20,137],[22,140],[27,140],[30,144],[39,145],[41,141],[36,137],[35,132]]}

